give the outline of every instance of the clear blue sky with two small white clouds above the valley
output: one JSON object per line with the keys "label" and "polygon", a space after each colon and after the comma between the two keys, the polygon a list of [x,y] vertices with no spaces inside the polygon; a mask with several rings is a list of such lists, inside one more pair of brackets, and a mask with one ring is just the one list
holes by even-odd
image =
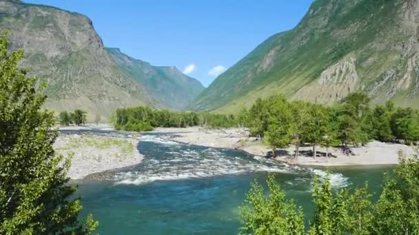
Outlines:
{"label": "clear blue sky with two small white clouds above the valley", "polygon": [[266,38],[292,29],[313,0],[25,0],[80,12],[106,47],[176,66],[207,86]]}

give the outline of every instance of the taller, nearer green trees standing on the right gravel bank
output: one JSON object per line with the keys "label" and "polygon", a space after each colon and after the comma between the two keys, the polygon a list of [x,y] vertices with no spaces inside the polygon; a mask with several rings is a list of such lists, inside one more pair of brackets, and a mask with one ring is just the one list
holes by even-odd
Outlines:
{"label": "taller, nearer green trees standing on the right gravel bank", "polygon": [[258,136],[276,148],[303,144],[328,148],[341,146],[351,153],[351,146],[380,142],[415,144],[419,140],[419,112],[411,108],[395,107],[394,103],[372,106],[366,93],[351,93],[339,104],[327,107],[303,100],[288,101],[285,96],[258,99],[249,109],[243,109],[238,123],[249,128],[250,135]]}

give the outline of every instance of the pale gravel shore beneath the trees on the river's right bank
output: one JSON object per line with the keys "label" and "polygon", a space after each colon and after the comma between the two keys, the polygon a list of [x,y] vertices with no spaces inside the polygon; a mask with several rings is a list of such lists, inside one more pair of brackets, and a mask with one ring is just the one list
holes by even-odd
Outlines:
{"label": "pale gravel shore beneath the trees on the river's right bank", "polygon": [[[247,153],[273,157],[272,148],[258,142],[254,137],[248,137],[242,128],[206,129],[200,127],[188,128],[156,128],[154,133],[160,133],[163,139],[184,144],[195,144],[216,148],[234,148]],[[413,154],[413,149],[404,144],[390,144],[370,142],[366,146],[351,148],[352,153],[345,155],[341,148],[316,148],[316,158],[313,157],[312,147],[300,147],[300,156],[294,158],[295,149],[289,147],[277,150],[278,161],[301,166],[355,166],[355,165],[384,165],[398,164],[398,153]],[[329,157],[326,157],[326,153]]]}

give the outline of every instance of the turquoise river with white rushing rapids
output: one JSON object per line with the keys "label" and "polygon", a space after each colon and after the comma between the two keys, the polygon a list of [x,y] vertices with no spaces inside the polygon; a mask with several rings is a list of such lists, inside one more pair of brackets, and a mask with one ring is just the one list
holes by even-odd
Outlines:
{"label": "turquoise river with white rushing rapids", "polygon": [[[78,182],[83,213],[99,220],[99,234],[237,234],[238,205],[249,183],[256,179],[265,184],[269,174],[309,216],[312,179],[326,175],[325,168],[293,167],[237,150],[165,142],[159,135],[141,137],[139,150],[145,158],[138,166],[93,177],[108,180]],[[382,173],[390,169],[329,168],[331,185],[354,188],[369,181],[377,196]]]}

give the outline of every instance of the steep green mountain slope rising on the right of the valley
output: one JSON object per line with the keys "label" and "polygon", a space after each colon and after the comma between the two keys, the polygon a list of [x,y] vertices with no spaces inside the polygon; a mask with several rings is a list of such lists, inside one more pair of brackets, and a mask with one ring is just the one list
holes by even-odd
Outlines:
{"label": "steep green mountain slope rising on the right of the valley", "polygon": [[189,108],[231,113],[277,93],[333,104],[352,91],[419,108],[418,40],[418,0],[316,0],[293,30],[268,38]]}

